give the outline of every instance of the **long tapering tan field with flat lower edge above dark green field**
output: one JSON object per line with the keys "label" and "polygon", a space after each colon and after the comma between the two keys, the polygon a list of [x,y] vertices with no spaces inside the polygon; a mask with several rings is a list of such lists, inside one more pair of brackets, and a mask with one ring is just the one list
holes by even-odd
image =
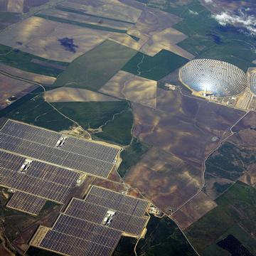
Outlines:
{"label": "long tapering tan field with flat lower edge above dark green field", "polygon": [[44,98],[48,102],[113,102],[118,100],[99,92],[70,87],[47,91]]}

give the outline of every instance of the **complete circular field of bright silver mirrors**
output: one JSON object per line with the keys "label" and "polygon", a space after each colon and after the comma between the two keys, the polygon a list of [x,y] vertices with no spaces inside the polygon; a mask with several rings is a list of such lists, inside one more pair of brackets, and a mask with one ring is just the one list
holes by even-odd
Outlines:
{"label": "complete circular field of bright silver mirrors", "polygon": [[179,70],[179,78],[193,92],[218,97],[238,95],[247,87],[245,72],[220,60],[191,60]]}

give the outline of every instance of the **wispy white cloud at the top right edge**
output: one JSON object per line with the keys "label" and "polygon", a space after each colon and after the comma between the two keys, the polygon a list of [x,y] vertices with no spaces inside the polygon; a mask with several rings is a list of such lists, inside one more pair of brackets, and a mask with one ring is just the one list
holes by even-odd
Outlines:
{"label": "wispy white cloud at the top right edge", "polygon": [[213,15],[213,18],[222,26],[232,25],[238,28],[245,28],[250,35],[256,36],[256,17],[246,14],[241,9],[238,11],[238,14],[223,11],[220,14]]}

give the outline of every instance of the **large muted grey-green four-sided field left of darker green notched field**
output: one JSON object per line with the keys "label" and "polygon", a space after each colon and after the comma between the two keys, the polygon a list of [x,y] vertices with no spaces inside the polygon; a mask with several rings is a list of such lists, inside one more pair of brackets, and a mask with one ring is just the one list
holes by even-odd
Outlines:
{"label": "large muted grey-green four-sided field left of darker green notched field", "polygon": [[114,41],[104,41],[76,58],[53,85],[97,91],[136,53]]}

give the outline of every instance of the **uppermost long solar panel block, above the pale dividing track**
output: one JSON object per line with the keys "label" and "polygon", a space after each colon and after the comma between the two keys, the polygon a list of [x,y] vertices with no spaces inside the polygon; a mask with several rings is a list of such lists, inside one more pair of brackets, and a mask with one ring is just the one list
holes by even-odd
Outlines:
{"label": "uppermost long solar panel block, above the pale dividing track", "polygon": [[50,164],[107,178],[119,148],[68,137],[56,147],[62,134],[8,120],[0,130],[0,148]]}

